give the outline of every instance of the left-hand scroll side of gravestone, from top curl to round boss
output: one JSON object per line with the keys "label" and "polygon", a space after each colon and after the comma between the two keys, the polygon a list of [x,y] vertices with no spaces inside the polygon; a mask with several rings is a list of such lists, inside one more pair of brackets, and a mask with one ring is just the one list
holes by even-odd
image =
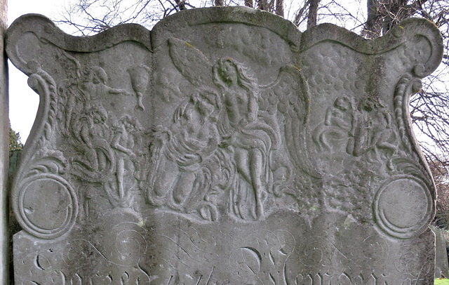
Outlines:
{"label": "left-hand scroll side of gravestone, from top curl to round boss", "polygon": [[55,26],[43,17],[25,15],[23,18],[37,19],[41,25],[34,28],[39,30],[11,25],[6,50],[11,62],[29,76],[28,85],[39,94],[40,101],[13,180],[11,201],[24,230],[36,237],[53,239],[74,225],[78,213],[74,188],[64,177],[67,159],[51,147],[58,111],[57,84],[41,67],[45,54],[42,51],[48,48],[48,43],[40,38],[41,33],[49,33]]}

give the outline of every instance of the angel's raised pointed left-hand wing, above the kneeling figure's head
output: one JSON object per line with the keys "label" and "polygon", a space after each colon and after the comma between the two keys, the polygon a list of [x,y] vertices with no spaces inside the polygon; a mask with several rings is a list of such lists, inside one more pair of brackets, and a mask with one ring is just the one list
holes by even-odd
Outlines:
{"label": "angel's raised pointed left-hand wing, above the kneeling figure's head", "polygon": [[181,74],[194,86],[212,85],[212,65],[199,49],[176,38],[168,39],[170,58]]}

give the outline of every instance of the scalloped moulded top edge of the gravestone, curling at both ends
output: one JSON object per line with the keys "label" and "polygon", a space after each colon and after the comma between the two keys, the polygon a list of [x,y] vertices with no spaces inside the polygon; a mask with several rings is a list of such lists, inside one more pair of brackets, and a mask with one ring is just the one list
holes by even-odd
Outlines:
{"label": "scalloped moulded top edge of the gravestone, curling at both ends", "polygon": [[[134,41],[149,51],[154,51],[173,32],[185,27],[211,22],[238,22],[265,27],[287,40],[291,48],[298,52],[306,51],[321,41],[337,41],[360,53],[378,54],[395,48],[411,37],[421,35],[429,39],[433,51],[431,58],[424,63],[422,77],[433,72],[443,57],[441,35],[438,28],[429,20],[407,19],[383,37],[366,40],[354,32],[327,23],[300,32],[292,22],[278,15],[242,6],[190,9],[164,18],[154,26],[152,31],[138,24],[123,24],[89,37],[75,37],[66,34],[45,16],[27,14],[16,19],[8,28],[6,53],[14,65],[20,65],[20,60],[15,53],[15,44],[26,32],[32,32],[39,39],[45,39],[66,51],[102,51],[123,41]],[[26,67],[20,69],[26,69]]]}

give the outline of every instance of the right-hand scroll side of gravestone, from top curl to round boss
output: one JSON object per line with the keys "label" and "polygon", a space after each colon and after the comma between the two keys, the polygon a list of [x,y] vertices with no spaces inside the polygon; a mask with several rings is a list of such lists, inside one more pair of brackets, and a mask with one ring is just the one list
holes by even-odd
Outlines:
{"label": "right-hand scroll side of gravestone, from top curl to round boss", "polygon": [[[440,64],[443,57],[443,41],[436,26],[424,19],[405,20],[393,29],[391,34],[394,37],[403,37],[405,42],[403,48],[406,51],[405,54],[409,56],[407,61],[404,60],[409,62],[408,71],[401,74],[401,79],[398,80],[394,91],[394,118],[398,128],[398,140],[401,141],[398,148],[410,154],[411,160],[415,161],[415,166],[412,169],[410,164],[405,166],[408,162],[404,165],[403,158],[392,160],[393,167],[396,171],[401,171],[403,175],[394,175],[377,190],[373,213],[377,224],[384,232],[393,237],[407,239],[428,230],[428,225],[435,214],[436,187],[427,161],[413,133],[409,102],[410,95],[421,90],[421,79],[431,74]],[[404,166],[409,169],[406,171]],[[385,204],[385,201],[391,201],[389,195],[398,192],[408,192],[408,197],[416,195],[409,201],[403,199],[399,204],[404,208],[415,207],[413,215],[410,216],[415,222],[411,220],[398,222],[394,218],[397,215],[396,210],[388,209],[389,206]],[[382,203],[384,203],[383,206]],[[419,211],[416,211],[417,209]]]}

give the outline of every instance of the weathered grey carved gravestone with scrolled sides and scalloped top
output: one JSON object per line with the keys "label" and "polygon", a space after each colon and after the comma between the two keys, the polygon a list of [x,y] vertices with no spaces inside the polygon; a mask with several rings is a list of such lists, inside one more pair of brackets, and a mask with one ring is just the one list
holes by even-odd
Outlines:
{"label": "weathered grey carved gravestone with scrolled sides and scalloped top", "polygon": [[83,38],[25,15],[7,36],[41,97],[17,284],[433,282],[408,113],[441,60],[431,22],[366,41],[227,7]]}

